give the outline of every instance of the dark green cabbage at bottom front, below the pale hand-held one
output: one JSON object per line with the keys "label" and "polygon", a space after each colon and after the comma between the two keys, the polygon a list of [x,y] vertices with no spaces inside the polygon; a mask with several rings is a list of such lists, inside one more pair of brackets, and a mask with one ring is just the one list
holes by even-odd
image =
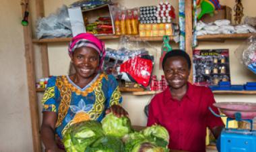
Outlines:
{"label": "dark green cabbage at bottom front, below the pale hand-held one", "polygon": [[86,152],[122,152],[122,151],[124,151],[124,146],[122,141],[117,137],[111,137],[111,136],[101,137],[86,149]]}

